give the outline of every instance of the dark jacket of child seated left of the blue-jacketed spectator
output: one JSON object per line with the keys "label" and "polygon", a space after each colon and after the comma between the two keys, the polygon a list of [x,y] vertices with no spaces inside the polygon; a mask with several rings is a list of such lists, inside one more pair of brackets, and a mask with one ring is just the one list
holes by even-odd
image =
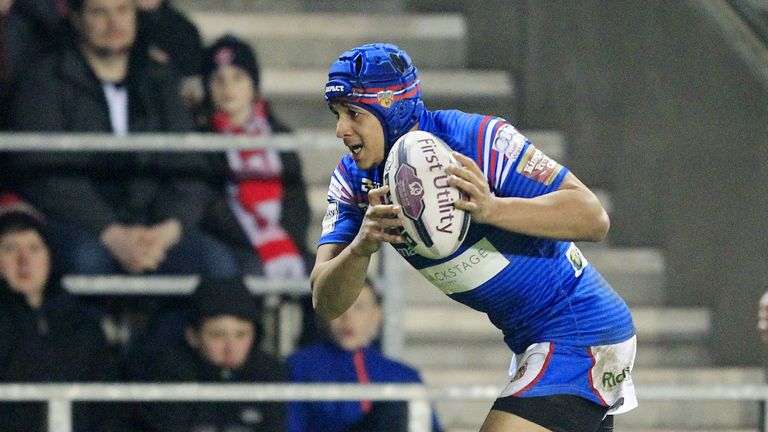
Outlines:
{"label": "dark jacket of child seated left of the blue-jacketed spectator", "polygon": [[[256,348],[239,369],[222,369],[203,360],[187,345],[170,349],[151,366],[152,382],[275,383],[287,381],[283,365]],[[140,410],[145,432],[284,432],[282,402],[171,402],[144,404]]]}

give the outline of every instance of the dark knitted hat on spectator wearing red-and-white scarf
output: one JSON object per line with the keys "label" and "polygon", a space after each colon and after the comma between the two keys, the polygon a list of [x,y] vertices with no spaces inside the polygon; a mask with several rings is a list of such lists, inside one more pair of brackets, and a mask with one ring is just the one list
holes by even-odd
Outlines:
{"label": "dark knitted hat on spectator wearing red-and-white scarf", "polygon": [[246,42],[233,35],[219,38],[203,52],[203,83],[208,83],[211,74],[220,66],[232,65],[248,72],[253,86],[259,88],[259,63],[256,54]]}

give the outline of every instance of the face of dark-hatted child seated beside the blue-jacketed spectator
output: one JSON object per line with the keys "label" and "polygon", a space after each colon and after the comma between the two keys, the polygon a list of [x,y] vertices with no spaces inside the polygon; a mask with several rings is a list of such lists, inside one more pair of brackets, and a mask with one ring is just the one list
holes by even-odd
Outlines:
{"label": "face of dark-hatted child seated beside the blue-jacketed spectator", "polygon": [[248,358],[254,333],[253,322],[234,315],[221,315],[203,321],[196,334],[188,334],[188,338],[211,363],[235,369]]}

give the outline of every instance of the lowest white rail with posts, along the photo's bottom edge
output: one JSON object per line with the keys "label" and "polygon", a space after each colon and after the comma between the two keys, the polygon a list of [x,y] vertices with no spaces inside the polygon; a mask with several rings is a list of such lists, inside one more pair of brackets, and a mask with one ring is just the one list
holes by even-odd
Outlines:
{"label": "lowest white rail with posts, along the photo's bottom edge", "polygon": [[[765,407],[768,385],[644,385],[638,399],[754,401]],[[2,384],[0,401],[48,403],[48,432],[71,432],[75,401],[322,401],[402,400],[408,403],[408,431],[431,430],[430,403],[438,400],[483,400],[489,405],[501,392],[496,386],[424,386],[418,384]],[[764,409],[761,409],[764,413]],[[760,430],[765,432],[765,415]]]}

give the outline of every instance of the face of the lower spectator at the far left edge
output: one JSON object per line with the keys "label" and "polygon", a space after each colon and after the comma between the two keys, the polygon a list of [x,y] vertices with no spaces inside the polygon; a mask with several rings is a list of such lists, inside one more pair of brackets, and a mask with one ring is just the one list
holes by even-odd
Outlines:
{"label": "face of the lower spectator at the far left edge", "polygon": [[0,238],[0,274],[11,289],[40,296],[51,271],[51,255],[35,230],[10,232]]}

